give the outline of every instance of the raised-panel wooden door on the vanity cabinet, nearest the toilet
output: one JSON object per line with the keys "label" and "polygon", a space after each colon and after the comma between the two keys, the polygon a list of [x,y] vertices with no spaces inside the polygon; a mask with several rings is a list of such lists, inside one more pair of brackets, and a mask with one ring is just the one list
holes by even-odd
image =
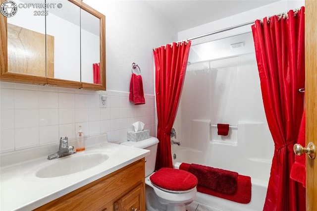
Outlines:
{"label": "raised-panel wooden door on the vanity cabinet, nearest the toilet", "polygon": [[114,211],[140,211],[143,195],[143,184],[124,195],[114,203]]}

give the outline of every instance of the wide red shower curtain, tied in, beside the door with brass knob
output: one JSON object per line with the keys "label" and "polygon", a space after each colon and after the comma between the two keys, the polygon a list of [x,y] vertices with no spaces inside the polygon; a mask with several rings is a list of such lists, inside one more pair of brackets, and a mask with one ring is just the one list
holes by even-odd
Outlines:
{"label": "wide red shower curtain, tied in, beside the door with brass knob", "polygon": [[[275,144],[264,211],[305,211],[305,189],[290,179],[304,109],[304,7],[252,25],[263,103]],[[305,172],[303,172],[305,173]]]}

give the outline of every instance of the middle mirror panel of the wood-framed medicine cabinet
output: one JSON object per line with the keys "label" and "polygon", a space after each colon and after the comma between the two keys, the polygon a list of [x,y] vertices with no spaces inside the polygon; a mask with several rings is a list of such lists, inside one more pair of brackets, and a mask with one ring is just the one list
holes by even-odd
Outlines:
{"label": "middle mirror panel of the wood-framed medicine cabinet", "polygon": [[[48,9],[49,15],[46,16],[46,52],[47,55],[53,54],[54,58],[54,74],[47,77],[80,81],[80,7],[70,1],[59,2],[62,2],[62,7]],[[58,2],[46,0],[46,3],[57,5]],[[51,37],[54,45],[51,45]],[[92,51],[96,49],[99,48]]]}

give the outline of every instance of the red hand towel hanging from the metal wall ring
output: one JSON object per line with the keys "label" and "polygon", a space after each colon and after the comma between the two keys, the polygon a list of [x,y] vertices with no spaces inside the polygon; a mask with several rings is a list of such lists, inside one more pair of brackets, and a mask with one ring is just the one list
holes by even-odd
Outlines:
{"label": "red hand towel hanging from the metal wall ring", "polygon": [[141,75],[132,73],[129,100],[134,102],[134,105],[145,104]]}

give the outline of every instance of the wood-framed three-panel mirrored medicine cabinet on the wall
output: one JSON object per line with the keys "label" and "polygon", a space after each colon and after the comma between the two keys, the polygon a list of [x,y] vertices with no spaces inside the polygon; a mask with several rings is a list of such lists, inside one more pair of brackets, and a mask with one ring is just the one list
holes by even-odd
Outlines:
{"label": "wood-framed three-panel mirrored medicine cabinet on the wall", "polygon": [[36,0],[43,14],[23,1],[0,14],[0,80],[106,90],[105,16],[80,0]]}

